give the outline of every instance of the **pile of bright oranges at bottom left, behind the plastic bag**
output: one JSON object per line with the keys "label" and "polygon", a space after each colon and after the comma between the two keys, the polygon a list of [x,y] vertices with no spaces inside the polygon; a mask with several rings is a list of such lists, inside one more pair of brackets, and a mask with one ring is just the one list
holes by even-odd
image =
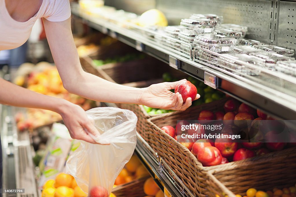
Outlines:
{"label": "pile of bright oranges at bottom left, behind the plastic bag", "polygon": [[[43,185],[42,197],[87,197],[78,187],[73,176],[60,173],[55,180],[48,180]],[[111,197],[116,197],[113,193]]]}

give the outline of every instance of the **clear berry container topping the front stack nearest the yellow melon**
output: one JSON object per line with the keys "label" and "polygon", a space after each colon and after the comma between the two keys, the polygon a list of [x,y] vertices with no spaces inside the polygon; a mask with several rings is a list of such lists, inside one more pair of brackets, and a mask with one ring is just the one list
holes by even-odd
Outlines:
{"label": "clear berry container topping the front stack nearest the yellow melon", "polygon": [[184,31],[193,34],[213,33],[217,25],[216,20],[210,19],[182,19],[180,25],[184,27]]}

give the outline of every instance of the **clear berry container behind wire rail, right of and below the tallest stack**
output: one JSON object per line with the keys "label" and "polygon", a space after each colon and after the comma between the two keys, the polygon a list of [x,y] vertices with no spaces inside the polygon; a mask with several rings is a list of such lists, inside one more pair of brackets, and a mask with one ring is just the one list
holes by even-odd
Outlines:
{"label": "clear berry container behind wire rail, right of and below the tallest stack", "polygon": [[216,53],[227,53],[233,51],[236,40],[223,35],[207,34],[195,36],[194,44]]}

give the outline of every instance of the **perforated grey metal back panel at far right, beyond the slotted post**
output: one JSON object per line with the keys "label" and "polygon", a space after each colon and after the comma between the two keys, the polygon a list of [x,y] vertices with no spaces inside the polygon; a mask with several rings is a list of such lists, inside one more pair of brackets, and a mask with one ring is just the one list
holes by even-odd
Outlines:
{"label": "perforated grey metal back panel at far right, beyond the slotted post", "polygon": [[296,2],[280,2],[277,44],[296,50]]}

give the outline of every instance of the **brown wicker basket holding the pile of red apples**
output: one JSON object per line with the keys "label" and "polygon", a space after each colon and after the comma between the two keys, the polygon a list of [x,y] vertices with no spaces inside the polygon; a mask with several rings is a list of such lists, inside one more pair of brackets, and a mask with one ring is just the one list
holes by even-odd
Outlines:
{"label": "brown wicker basket holding the pile of red apples", "polygon": [[219,111],[223,103],[220,100],[189,108],[185,112],[152,117],[147,121],[149,126],[143,138],[196,196],[221,196],[222,193],[234,196],[234,193],[243,194],[250,187],[268,190],[295,184],[295,147],[204,167],[189,149],[160,129],[166,125],[176,126],[177,120],[197,120],[202,110]]}

